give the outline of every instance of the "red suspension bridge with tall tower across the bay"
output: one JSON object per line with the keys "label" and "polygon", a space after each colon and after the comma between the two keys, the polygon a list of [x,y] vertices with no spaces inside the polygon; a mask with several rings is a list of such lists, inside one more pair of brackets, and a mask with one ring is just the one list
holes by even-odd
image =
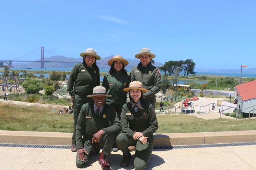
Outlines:
{"label": "red suspension bridge with tall tower across the bay", "polygon": [[[39,48],[40,49],[40,48]],[[38,49],[32,51],[31,53],[34,53],[35,51],[37,51]],[[50,51],[49,49],[47,49],[47,51],[49,51],[50,53],[53,53],[52,51]],[[14,68],[13,66],[13,62],[40,62],[41,63],[41,68],[45,68],[45,63],[46,62],[58,62],[58,63],[80,63],[78,61],[45,61],[45,48],[41,47],[41,60],[21,60],[20,58],[24,58],[28,55],[30,55],[31,53],[28,53],[26,55],[23,55],[19,58],[15,58],[13,60],[0,60],[0,62],[3,62],[5,64],[7,64],[10,68]],[[54,55],[56,55],[55,53],[53,53]],[[113,57],[113,55],[112,55]],[[34,57],[33,57],[34,58]],[[97,64],[102,64],[102,63],[97,63]],[[108,64],[104,64],[104,65],[108,65]]]}

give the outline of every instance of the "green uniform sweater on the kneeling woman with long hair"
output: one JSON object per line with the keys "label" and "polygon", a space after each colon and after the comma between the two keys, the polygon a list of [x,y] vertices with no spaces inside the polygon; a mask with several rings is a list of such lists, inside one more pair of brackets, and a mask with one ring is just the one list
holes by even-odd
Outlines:
{"label": "green uniform sweater on the kneeling woman with long hair", "polygon": [[131,102],[124,104],[121,113],[122,131],[129,137],[133,137],[134,132],[141,132],[144,136],[153,135],[158,130],[158,121],[152,104],[146,102],[147,119],[143,113],[134,111]]}

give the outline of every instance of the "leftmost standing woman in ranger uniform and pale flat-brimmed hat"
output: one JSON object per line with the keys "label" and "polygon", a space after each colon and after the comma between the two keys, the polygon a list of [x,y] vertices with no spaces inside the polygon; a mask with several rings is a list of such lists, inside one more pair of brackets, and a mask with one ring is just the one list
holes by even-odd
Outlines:
{"label": "leftmost standing woman in ranger uniform and pale flat-brimmed hat", "polygon": [[100,56],[92,48],[87,48],[85,53],[80,54],[83,63],[76,64],[72,69],[68,80],[68,91],[73,102],[74,129],[72,136],[71,151],[76,152],[76,121],[83,104],[92,101],[87,97],[93,92],[95,86],[100,85],[100,71],[95,60]]}

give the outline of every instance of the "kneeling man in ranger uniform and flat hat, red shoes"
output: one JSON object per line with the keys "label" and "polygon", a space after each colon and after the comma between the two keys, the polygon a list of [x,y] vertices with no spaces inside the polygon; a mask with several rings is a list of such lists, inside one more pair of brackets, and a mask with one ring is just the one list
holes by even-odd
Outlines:
{"label": "kneeling man in ranger uniform and flat hat, red shoes", "polygon": [[105,104],[106,89],[103,86],[96,86],[93,89],[93,101],[83,104],[77,119],[76,126],[76,166],[82,167],[93,155],[97,155],[95,147],[98,144],[103,145],[98,163],[103,170],[109,170],[110,165],[106,157],[110,154],[115,143],[117,132],[122,129],[121,122],[112,106]]}

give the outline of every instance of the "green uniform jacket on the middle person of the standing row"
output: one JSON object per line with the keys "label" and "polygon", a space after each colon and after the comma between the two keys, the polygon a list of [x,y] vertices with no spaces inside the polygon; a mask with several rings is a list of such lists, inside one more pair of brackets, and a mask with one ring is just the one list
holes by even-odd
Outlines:
{"label": "green uniform jacket on the middle person of the standing row", "polygon": [[124,88],[129,87],[128,74],[122,74],[121,71],[115,71],[113,74],[104,76],[102,86],[106,88],[106,93],[112,97],[106,98],[107,104],[125,104],[127,92],[123,91]]}

